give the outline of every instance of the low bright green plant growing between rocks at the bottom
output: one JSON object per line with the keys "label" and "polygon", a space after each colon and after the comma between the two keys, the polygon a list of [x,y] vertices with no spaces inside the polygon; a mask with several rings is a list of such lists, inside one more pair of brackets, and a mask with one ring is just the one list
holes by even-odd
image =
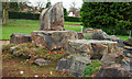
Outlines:
{"label": "low bright green plant growing between rocks at the bottom", "polygon": [[85,77],[90,77],[92,74],[97,72],[99,70],[99,67],[103,65],[99,60],[92,60],[91,65],[86,66],[85,69],[82,70],[82,74]]}

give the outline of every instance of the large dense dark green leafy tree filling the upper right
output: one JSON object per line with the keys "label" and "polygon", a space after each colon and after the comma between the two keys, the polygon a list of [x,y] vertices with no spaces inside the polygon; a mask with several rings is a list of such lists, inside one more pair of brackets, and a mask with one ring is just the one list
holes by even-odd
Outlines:
{"label": "large dense dark green leafy tree filling the upper right", "polygon": [[129,2],[84,2],[80,16],[85,27],[132,30]]}

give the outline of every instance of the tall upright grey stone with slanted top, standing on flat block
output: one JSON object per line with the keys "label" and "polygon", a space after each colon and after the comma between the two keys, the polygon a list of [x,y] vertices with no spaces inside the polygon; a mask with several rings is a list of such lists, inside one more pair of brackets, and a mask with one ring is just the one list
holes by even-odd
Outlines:
{"label": "tall upright grey stone with slanted top, standing on flat block", "polygon": [[45,9],[40,19],[41,31],[64,31],[64,11],[62,2]]}

